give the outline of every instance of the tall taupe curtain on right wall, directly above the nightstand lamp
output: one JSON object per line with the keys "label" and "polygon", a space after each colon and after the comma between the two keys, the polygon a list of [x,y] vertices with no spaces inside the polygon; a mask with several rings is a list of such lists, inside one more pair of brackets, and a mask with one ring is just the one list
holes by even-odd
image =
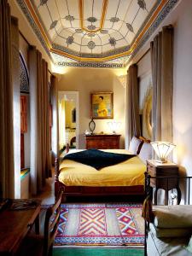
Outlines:
{"label": "tall taupe curtain on right wall, directly above the nightstand lamp", "polygon": [[173,27],[164,26],[150,44],[153,140],[172,142]]}

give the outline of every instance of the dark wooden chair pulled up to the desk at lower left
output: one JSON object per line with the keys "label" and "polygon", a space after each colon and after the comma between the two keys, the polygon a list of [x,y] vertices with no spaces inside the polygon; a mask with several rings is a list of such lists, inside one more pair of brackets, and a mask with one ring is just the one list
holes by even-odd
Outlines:
{"label": "dark wooden chair pulled up to the desk at lower left", "polygon": [[49,207],[45,214],[44,236],[29,234],[18,250],[18,256],[48,256],[52,255],[53,244],[60,221],[61,198],[63,191],[55,201],[55,205]]}

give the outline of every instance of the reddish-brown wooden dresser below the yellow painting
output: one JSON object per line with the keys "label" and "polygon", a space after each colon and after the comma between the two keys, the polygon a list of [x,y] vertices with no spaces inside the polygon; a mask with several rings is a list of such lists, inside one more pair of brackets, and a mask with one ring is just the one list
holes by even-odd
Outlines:
{"label": "reddish-brown wooden dresser below the yellow painting", "polygon": [[86,148],[119,149],[119,134],[93,134],[85,135]]}

